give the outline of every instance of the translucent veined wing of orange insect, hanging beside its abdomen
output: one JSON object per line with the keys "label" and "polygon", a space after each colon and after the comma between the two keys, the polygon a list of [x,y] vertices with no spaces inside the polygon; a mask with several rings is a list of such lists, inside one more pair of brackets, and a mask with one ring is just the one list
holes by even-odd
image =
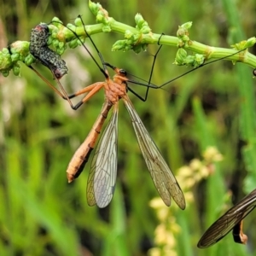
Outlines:
{"label": "translucent veined wing of orange insect, hanging beside its abdomen", "polygon": [[113,105],[111,119],[96,147],[87,182],[87,201],[107,207],[112,200],[117,172],[118,102]]}

